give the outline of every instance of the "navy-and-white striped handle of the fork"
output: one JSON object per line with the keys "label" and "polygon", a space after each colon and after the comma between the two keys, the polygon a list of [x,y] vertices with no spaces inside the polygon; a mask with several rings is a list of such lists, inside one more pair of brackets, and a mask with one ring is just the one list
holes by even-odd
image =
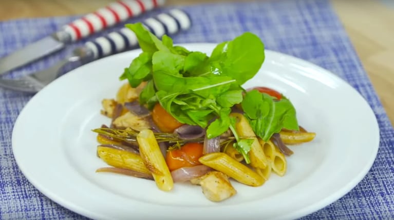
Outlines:
{"label": "navy-and-white striped handle of the fork", "polygon": [[[157,37],[164,34],[173,35],[191,27],[191,19],[184,11],[172,9],[155,17],[145,19],[142,24]],[[128,28],[122,28],[106,36],[85,43],[93,52],[95,59],[138,47],[137,36]]]}

